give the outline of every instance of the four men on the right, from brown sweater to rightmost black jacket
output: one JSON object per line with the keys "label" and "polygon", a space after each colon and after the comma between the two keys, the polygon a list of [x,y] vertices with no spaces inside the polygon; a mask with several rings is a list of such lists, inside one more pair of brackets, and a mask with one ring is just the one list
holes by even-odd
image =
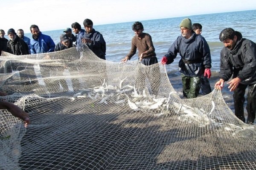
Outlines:
{"label": "four men on the right, from brown sweater to rightmost black jacket", "polygon": [[[130,53],[121,61],[126,62],[136,53],[138,48],[139,60],[144,65],[157,63],[154,45],[149,34],[143,33],[142,23],[132,26],[135,36],[132,39]],[[162,57],[161,64],[171,64],[179,53],[181,59],[178,67],[181,73],[183,96],[191,99],[198,96],[200,87],[203,94],[212,90],[207,78],[211,77],[211,54],[207,41],[201,36],[201,24],[185,18],[180,23],[181,35],[172,43],[168,52]],[[244,94],[247,86],[247,123],[253,124],[256,115],[256,44],[242,38],[239,31],[225,28],[219,39],[224,43],[220,57],[220,80],[215,88],[222,89],[227,82],[230,91],[234,91],[235,115],[245,122]]]}

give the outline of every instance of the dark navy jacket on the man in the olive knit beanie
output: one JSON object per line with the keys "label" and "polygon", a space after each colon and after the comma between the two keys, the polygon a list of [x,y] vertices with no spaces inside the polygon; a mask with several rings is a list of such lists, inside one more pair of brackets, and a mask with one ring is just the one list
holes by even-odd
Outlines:
{"label": "dark navy jacket on the man in the olive knit beanie", "polygon": [[204,68],[211,68],[210,48],[204,37],[195,34],[186,39],[182,36],[177,37],[165,55],[168,59],[166,64],[171,64],[180,54],[179,71],[185,76],[198,77],[204,73]]}

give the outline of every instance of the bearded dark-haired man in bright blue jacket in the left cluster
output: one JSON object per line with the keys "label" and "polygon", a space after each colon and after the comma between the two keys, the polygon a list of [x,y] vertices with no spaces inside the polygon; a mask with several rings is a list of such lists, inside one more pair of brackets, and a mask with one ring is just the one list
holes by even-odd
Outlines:
{"label": "bearded dark-haired man in bright blue jacket in the left cluster", "polygon": [[30,26],[32,33],[32,40],[30,41],[31,54],[49,53],[53,52],[55,43],[48,35],[42,34],[38,26]]}

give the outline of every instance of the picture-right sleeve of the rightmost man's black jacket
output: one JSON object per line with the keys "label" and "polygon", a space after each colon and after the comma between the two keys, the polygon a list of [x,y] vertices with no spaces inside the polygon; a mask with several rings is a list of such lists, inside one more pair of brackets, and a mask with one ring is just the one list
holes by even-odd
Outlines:
{"label": "picture-right sleeve of the rightmost man's black jacket", "polygon": [[252,42],[242,44],[244,46],[242,54],[244,59],[244,67],[237,77],[242,81],[252,77],[256,72],[256,45]]}

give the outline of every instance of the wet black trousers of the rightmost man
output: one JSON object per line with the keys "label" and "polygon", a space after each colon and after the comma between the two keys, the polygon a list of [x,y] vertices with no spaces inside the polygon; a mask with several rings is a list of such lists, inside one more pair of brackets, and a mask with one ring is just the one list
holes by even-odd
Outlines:
{"label": "wet black trousers of the rightmost man", "polygon": [[254,85],[242,85],[239,84],[236,90],[234,91],[233,98],[234,98],[234,105],[235,105],[235,115],[240,120],[245,122],[244,118],[244,94],[245,89],[248,88],[247,94],[247,106],[246,110],[248,113],[247,123],[252,124],[255,119],[255,112],[256,112],[256,84]]}

